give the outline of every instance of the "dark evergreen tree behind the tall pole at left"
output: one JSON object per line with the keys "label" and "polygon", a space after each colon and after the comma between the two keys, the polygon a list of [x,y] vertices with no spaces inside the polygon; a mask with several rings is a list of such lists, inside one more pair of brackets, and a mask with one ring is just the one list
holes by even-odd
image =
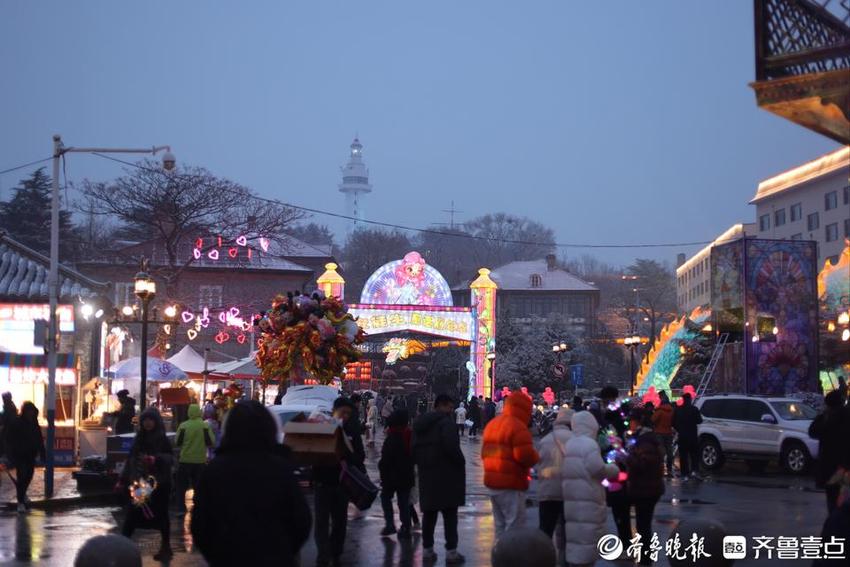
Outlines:
{"label": "dark evergreen tree behind the tall pole at left", "polygon": [[[50,176],[44,168],[22,179],[9,201],[0,203],[0,229],[10,238],[43,254],[50,253]],[[69,259],[75,230],[69,211],[59,212],[59,254]]]}

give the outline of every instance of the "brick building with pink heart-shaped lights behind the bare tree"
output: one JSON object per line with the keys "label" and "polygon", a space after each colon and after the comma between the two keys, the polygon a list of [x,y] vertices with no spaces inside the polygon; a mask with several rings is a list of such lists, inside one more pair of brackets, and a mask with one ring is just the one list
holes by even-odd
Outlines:
{"label": "brick building with pink heart-shaped lights behind the bare tree", "polygon": [[[157,241],[125,243],[102,257],[79,262],[77,269],[100,281],[110,282],[116,309],[136,305],[133,277],[139,259],[149,260],[149,273],[157,281],[153,306],[162,318],[168,305],[178,306],[176,328],[151,330],[151,344],[167,346],[169,356],[189,344],[198,352],[211,349],[211,360],[245,357],[252,350],[252,315],[268,309],[271,300],[288,291],[312,291],[324,265],[334,261],[330,246],[313,245],[294,238],[283,244],[263,239],[226,242],[216,237],[199,238],[178,251],[185,267],[173,276],[168,257]],[[170,278],[170,282],[167,281]],[[127,323],[128,336],[139,336],[139,325]],[[128,345],[128,356],[138,345]]]}

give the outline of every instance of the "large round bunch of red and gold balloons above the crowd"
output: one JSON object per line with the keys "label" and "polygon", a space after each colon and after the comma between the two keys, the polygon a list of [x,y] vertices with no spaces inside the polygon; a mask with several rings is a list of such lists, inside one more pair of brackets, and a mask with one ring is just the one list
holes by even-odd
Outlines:
{"label": "large round bunch of red and gold balloons above the crowd", "polygon": [[342,376],[346,364],[358,360],[357,345],[365,338],[348,307],[318,291],[278,295],[255,325],[262,335],[257,367],[267,383],[314,379],[329,384]]}

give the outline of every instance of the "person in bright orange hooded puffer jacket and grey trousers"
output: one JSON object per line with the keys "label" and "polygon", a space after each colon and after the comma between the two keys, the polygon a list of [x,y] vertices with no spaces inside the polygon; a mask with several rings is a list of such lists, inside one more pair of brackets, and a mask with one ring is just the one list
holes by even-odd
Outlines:
{"label": "person in bright orange hooded puffer jacket and grey trousers", "polygon": [[501,415],[484,428],[484,486],[491,491],[497,538],[505,530],[525,525],[528,469],[540,460],[528,429],[531,408],[531,398],[516,390],[508,396]]}

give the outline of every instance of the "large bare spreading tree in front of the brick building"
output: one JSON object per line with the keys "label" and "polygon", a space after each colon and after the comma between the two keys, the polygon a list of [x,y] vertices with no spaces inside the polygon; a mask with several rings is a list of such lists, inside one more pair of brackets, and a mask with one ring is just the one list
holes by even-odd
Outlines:
{"label": "large bare spreading tree in front of the brick building", "polygon": [[244,237],[256,246],[260,239],[286,249],[286,229],[306,215],[201,167],[164,171],[152,161],[126,170],[110,183],[83,182],[89,215],[104,215],[120,223],[119,235],[152,241],[164,262],[155,262],[157,275],[174,296],[180,274],[195,258],[184,251],[198,236]]}

